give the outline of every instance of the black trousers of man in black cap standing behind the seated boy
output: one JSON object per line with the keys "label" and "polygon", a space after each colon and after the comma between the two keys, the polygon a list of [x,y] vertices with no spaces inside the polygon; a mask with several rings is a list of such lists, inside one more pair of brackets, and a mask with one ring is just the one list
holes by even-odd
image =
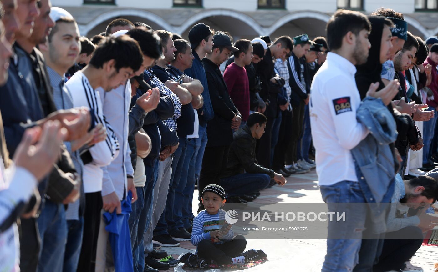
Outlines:
{"label": "black trousers of man in black cap standing behind the seated boy", "polygon": [[201,201],[202,191],[204,191],[204,188],[209,184],[220,185],[220,175],[226,170],[228,153],[230,153],[230,145],[205,147],[204,157],[202,159],[201,174],[199,175],[198,181],[198,212],[204,209]]}

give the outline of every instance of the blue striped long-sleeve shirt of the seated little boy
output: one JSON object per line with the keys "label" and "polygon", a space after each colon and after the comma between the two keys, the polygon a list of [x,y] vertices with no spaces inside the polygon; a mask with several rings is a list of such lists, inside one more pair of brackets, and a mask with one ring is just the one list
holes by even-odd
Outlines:
{"label": "blue striped long-sleeve shirt of the seated little boy", "polygon": [[[215,215],[208,214],[205,210],[198,213],[193,219],[193,229],[190,237],[191,243],[194,246],[198,246],[199,242],[204,239],[211,239],[210,232],[214,230],[220,230],[225,223],[226,212],[223,209],[219,209]],[[223,244],[228,240],[233,239],[234,232],[231,229],[226,235],[222,237],[219,242],[215,244]]]}

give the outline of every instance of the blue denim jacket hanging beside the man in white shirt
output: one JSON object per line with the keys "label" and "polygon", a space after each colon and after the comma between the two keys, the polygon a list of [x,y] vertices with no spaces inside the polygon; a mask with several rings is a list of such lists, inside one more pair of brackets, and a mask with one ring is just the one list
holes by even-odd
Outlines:
{"label": "blue denim jacket hanging beside the man in white shirt", "polygon": [[385,209],[394,192],[394,156],[389,144],[396,141],[396,121],[381,99],[366,97],[357,110],[357,121],[370,134],[351,150],[362,192],[370,203],[379,232],[385,231]]}

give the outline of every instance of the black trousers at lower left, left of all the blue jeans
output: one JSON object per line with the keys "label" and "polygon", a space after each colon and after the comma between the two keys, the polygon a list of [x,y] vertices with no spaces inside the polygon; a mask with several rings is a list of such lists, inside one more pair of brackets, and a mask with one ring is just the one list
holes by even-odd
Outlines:
{"label": "black trousers at lower left, left of all the blue jeans", "polygon": [[20,269],[21,271],[34,272],[38,266],[39,237],[36,218],[20,219]]}

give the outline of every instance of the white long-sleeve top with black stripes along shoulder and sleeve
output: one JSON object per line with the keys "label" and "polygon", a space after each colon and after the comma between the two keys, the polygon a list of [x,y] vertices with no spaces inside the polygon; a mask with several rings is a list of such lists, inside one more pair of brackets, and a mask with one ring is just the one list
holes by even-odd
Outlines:
{"label": "white long-sleeve top with black stripes along shoulder and sleeve", "polygon": [[102,124],[106,128],[106,139],[101,141],[88,151],[92,161],[85,164],[83,172],[83,184],[85,193],[102,191],[102,166],[107,166],[119,154],[119,141],[112,127],[103,115],[102,100],[99,92],[95,91],[88,78],[81,72],[76,72],[65,84],[73,98],[73,106],[86,106],[90,109],[94,125]]}

